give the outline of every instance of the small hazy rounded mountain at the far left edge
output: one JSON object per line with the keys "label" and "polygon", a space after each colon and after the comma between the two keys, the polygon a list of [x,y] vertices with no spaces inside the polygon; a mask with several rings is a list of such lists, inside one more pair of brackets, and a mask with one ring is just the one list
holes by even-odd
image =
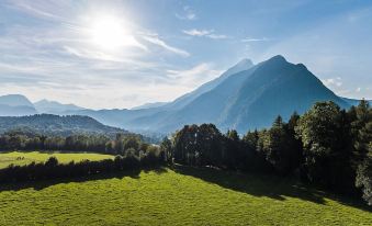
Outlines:
{"label": "small hazy rounded mountain at the far left edge", "polygon": [[24,95],[9,94],[0,97],[0,116],[21,116],[36,113],[34,105]]}

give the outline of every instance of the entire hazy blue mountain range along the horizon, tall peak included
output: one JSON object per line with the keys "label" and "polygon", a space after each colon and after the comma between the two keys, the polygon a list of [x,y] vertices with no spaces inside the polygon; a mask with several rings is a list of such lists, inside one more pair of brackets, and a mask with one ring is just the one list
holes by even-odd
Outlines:
{"label": "entire hazy blue mountain range along the horizon, tall peak included", "polygon": [[[288,120],[294,111],[304,113],[317,101],[334,101],[345,109],[359,103],[336,95],[303,64],[291,64],[282,56],[257,65],[244,59],[172,102],[147,103],[131,110],[94,111],[46,100],[32,104],[22,95],[12,97],[0,97],[0,115],[9,114],[9,108],[22,106],[29,108],[24,114],[88,115],[106,125],[156,133],[170,133],[192,123],[214,123],[222,129],[245,133],[271,125],[279,114]],[[16,109],[13,115],[22,115],[22,111]]]}

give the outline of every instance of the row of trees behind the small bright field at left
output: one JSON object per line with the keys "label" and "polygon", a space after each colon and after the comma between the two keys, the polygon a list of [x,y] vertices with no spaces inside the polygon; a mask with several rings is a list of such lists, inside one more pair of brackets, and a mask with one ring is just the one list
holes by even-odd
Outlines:
{"label": "row of trees behind the small bright field at left", "polygon": [[32,132],[10,131],[0,135],[0,151],[8,150],[58,150],[89,151],[125,155],[154,148],[135,134],[116,134],[114,139],[105,135],[78,134],[67,137],[40,135]]}

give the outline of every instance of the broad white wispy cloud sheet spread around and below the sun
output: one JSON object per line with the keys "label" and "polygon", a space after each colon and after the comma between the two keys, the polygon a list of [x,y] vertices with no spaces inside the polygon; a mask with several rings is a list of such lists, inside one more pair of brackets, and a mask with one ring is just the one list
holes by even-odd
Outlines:
{"label": "broad white wispy cloud sheet spread around and below the sun", "polygon": [[[80,20],[94,14],[72,9],[74,3],[7,1],[4,10],[22,20],[5,24],[0,34],[0,94],[21,93],[33,101],[72,100],[86,108],[101,109],[170,101],[191,90],[182,84],[181,77],[162,82],[169,80],[168,69],[180,66],[161,58],[169,54],[172,58],[189,57],[189,52],[139,24],[135,24],[132,34],[137,46],[112,52],[99,48],[82,34],[89,23]],[[34,20],[37,23],[29,23]]]}

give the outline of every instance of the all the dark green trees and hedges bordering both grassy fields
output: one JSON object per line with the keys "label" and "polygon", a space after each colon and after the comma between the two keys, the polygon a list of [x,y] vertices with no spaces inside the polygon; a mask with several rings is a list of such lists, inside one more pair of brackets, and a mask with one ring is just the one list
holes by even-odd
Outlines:
{"label": "all the dark green trees and hedges bordering both grassy fields", "polygon": [[[117,134],[111,139],[97,135],[47,137],[18,132],[3,134],[0,147],[4,151],[117,155],[114,160],[97,162],[63,165],[49,159],[44,163],[10,166],[0,170],[1,181],[79,177],[180,163],[297,177],[304,183],[359,196],[372,204],[372,110],[367,101],[349,110],[332,102],[318,102],[303,115],[293,113],[288,122],[278,116],[270,128],[244,135],[234,129],[222,133],[213,124],[185,125],[166,137],[160,146],[134,135]],[[47,171],[50,173],[46,174]]]}

